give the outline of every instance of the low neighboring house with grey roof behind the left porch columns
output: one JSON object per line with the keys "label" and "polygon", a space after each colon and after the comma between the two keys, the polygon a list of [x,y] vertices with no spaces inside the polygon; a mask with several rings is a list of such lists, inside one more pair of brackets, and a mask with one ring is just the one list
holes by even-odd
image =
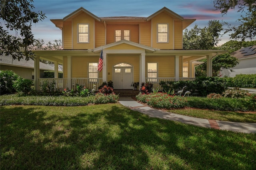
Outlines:
{"label": "low neighboring house with grey roof behind the left porch columns", "polygon": [[[12,56],[0,55],[0,70],[12,70],[24,79],[34,79],[34,60],[13,59]],[[40,77],[44,77],[44,71],[54,71],[54,67],[40,62]],[[61,70],[59,70],[61,71]]]}

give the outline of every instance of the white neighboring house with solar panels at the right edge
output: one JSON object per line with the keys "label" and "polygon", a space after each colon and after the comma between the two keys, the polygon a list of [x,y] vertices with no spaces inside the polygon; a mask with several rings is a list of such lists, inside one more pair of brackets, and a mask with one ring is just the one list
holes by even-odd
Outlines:
{"label": "white neighboring house with solar panels at the right edge", "polygon": [[239,49],[230,54],[239,64],[230,69],[222,69],[220,77],[236,77],[239,74],[256,74],[256,45]]}

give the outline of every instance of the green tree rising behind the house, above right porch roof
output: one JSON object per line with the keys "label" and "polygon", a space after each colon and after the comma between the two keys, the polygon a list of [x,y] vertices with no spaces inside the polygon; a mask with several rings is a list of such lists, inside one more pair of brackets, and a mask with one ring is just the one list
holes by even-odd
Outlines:
{"label": "green tree rising behind the house, above right porch roof", "polygon": [[183,49],[214,49],[220,41],[223,24],[218,20],[210,20],[208,27],[199,28],[197,25],[191,30],[185,29],[183,34]]}

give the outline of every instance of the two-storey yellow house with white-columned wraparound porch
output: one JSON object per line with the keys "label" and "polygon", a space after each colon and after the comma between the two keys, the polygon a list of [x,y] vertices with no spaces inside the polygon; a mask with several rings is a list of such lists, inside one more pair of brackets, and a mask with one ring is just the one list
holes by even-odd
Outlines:
{"label": "two-storey yellow house with white-columned wraparound porch", "polygon": [[[34,51],[39,58],[63,65],[63,88],[76,83],[92,89],[113,81],[114,89],[132,89],[132,82],[193,79],[194,61],[207,58],[207,75],[212,76],[212,59],[226,51],[182,50],[183,30],[195,19],[185,19],[164,7],[148,17],[98,17],[84,8],[63,19],[51,20],[62,30],[63,50]],[[103,69],[98,61],[103,50]],[[184,64],[187,77],[183,77]],[[37,75],[37,74],[35,74]],[[36,83],[36,88],[40,84]]]}

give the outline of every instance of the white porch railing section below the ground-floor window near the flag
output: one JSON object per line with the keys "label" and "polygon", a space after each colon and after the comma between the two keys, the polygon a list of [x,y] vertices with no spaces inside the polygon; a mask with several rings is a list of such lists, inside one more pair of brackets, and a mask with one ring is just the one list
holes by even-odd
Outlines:
{"label": "white porch railing section below the ground-floor window near the flag", "polygon": [[76,89],[76,84],[78,85],[83,85],[87,89],[92,90],[93,86],[96,85],[96,90],[97,88],[102,85],[103,80],[102,78],[71,78],[72,80],[72,89]]}

